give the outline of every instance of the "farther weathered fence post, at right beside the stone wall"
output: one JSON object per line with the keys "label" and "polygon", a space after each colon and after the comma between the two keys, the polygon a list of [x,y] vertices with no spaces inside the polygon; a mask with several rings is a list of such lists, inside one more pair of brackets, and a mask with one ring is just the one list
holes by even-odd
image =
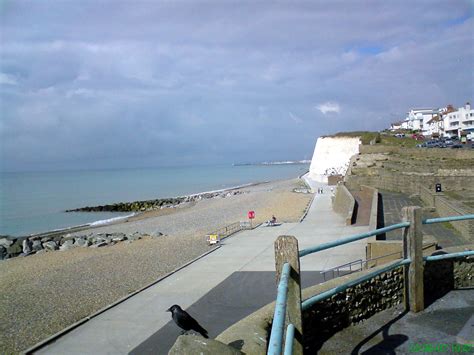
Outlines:
{"label": "farther weathered fence post, at right beside the stone wall", "polygon": [[421,208],[403,207],[402,215],[404,221],[410,222],[410,226],[403,230],[403,257],[411,259],[404,270],[405,309],[416,313],[425,309]]}

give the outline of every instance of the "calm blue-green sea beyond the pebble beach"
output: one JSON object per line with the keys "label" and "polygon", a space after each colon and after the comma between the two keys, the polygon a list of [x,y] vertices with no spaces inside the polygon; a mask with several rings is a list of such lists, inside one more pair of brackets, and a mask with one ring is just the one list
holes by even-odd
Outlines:
{"label": "calm blue-green sea beyond the pebble beach", "polygon": [[26,236],[130,213],[65,212],[84,206],[177,197],[298,177],[309,164],[216,165],[0,173],[0,235]]}

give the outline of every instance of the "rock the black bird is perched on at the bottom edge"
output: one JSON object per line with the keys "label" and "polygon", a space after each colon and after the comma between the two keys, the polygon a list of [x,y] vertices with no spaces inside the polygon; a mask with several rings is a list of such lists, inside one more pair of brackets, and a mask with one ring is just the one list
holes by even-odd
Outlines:
{"label": "rock the black bird is perched on at the bottom edge", "polygon": [[205,339],[196,335],[181,335],[176,339],[168,355],[239,355],[243,352],[214,339]]}

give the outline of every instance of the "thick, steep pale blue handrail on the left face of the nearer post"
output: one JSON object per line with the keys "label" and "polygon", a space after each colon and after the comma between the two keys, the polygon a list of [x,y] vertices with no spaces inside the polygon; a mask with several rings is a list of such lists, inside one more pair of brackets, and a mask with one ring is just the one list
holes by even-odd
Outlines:
{"label": "thick, steep pale blue handrail on the left face of the nearer post", "polygon": [[273,315],[272,330],[268,345],[268,355],[280,355],[285,327],[286,300],[288,298],[288,278],[290,276],[290,264],[284,263],[281,271],[278,293]]}

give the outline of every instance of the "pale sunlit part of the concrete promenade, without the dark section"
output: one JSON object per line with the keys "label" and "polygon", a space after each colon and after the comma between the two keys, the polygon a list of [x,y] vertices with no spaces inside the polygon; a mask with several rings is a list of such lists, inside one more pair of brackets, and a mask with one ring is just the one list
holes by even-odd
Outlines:
{"label": "pale sunlit part of the concrete promenade, without the dark section", "polygon": [[[279,235],[294,235],[300,249],[304,249],[368,231],[368,226],[345,226],[344,218],[332,211],[329,188],[324,189],[325,193],[315,195],[303,222],[261,226],[237,233],[206,257],[92,318],[36,353],[127,354],[169,323],[170,314],[164,311],[171,305],[188,309],[237,272],[274,272],[273,243]],[[359,241],[308,255],[301,259],[301,268],[320,271],[364,259],[365,245],[365,241]],[[210,335],[213,336],[212,332]]]}

